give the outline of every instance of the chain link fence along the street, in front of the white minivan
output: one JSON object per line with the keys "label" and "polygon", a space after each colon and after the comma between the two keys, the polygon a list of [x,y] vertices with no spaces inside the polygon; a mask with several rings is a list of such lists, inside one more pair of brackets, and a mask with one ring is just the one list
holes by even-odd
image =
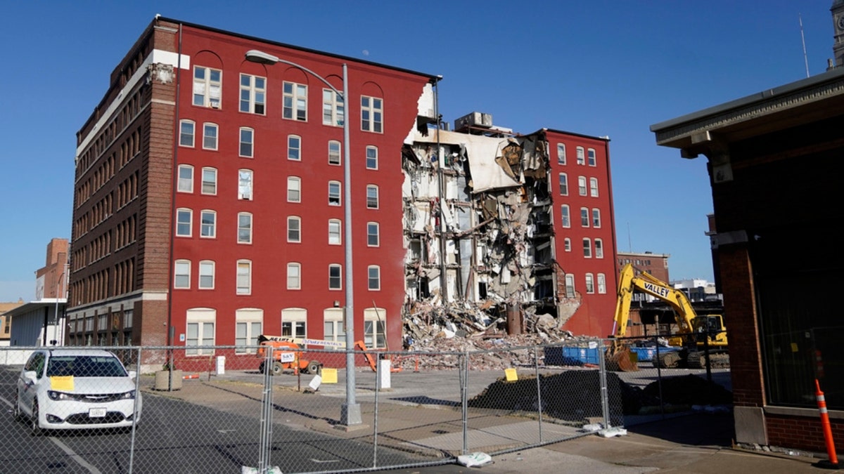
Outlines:
{"label": "chain link fence along the street, in front of the white minivan", "polygon": [[[642,387],[668,369],[640,358],[636,372],[606,370],[608,343],[357,350],[350,372],[342,349],[0,347],[0,401],[8,407],[0,466],[103,474],[348,472],[453,463],[476,451],[500,455],[620,428],[643,414],[647,404],[634,410],[631,396],[641,399]],[[109,353],[125,374],[51,372],[59,357]],[[41,377],[37,354],[46,354]],[[22,402],[19,394],[36,387],[45,395]],[[38,428],[32,410],[19,409],[32,400],[46,414]],[[112,401],[124,406],[112,408]],[[104,421],[113,426],[97,424]]]}

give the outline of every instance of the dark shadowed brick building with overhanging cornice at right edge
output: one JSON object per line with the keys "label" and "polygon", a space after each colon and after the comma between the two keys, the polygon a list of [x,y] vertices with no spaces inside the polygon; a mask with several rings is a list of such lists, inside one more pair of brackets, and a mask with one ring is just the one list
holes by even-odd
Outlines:
{"label": "dark shadowed brick building with overhanging cornice at right edge", "polygon": [[[736,441],[825,452],[815,380],[844,450],[844,2],[825,73],[652,125],[706,156],[729,331]],[[776,186],[781,183],[783,186]],[[717,230],[716,230],[717,229]]]}

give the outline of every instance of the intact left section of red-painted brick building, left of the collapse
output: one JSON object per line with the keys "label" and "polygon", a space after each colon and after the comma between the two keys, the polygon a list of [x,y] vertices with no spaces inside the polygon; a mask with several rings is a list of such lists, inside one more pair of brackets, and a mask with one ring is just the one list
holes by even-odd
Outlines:
{"label": "intact left section of red-painted brick building, left of the collapse", "polygon": [[[301,67],[250,62],[250,50]],[[345,103],[316,78],[342,91],[344,63]],[[348,118],[362,302],[354,331],[373,347],[385,337],[400,347],[402,171],[393,157],[434,82],[156,17],[77,133],[68,343],[343,340]]]}

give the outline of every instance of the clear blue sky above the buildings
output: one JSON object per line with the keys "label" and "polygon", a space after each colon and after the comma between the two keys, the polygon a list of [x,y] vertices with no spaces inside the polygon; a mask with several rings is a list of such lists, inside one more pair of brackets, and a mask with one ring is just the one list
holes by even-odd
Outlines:
{"label": "clear blue sky above the buildings", "polygon": [[70,238],[75,133],[155,13],[441,74],[446,121],[609,136],[619,250],[712,279],[706,159],[649,127],[806,77],[832,57],[831,0],[686,2],[14,2],[0,29],[0,301],[35,296],[46,244]]}

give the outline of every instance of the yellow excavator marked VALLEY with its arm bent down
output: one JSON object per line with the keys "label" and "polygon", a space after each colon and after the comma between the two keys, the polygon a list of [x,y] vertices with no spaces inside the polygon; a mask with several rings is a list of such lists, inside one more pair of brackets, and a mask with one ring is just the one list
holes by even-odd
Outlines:
{"label": "yellow excavator marked VALLEY with its arm bent down", "polygon": [[638,370],[630,356],[630,347],[622,339],[627,333],[627,321],[630,320],[630,301],[634,291],[641,291],[663,300],[674,310],[677,334],[668,338],[668,345],[681,347],[659,353],[653,361],[654,366],[662,368],[688,367],[697,369],[706,366],[708,354],[710,367],[729,367],[727,350],[727,328],[721,315],[695,314],[689,299],[677,288],[671,288],[650,273],[636,275],[633,266],[628,263],[619,275],[619,294],[615,303],[613,322],[613,342],[607,349],[607,366],[610,370],[625,372]]}

